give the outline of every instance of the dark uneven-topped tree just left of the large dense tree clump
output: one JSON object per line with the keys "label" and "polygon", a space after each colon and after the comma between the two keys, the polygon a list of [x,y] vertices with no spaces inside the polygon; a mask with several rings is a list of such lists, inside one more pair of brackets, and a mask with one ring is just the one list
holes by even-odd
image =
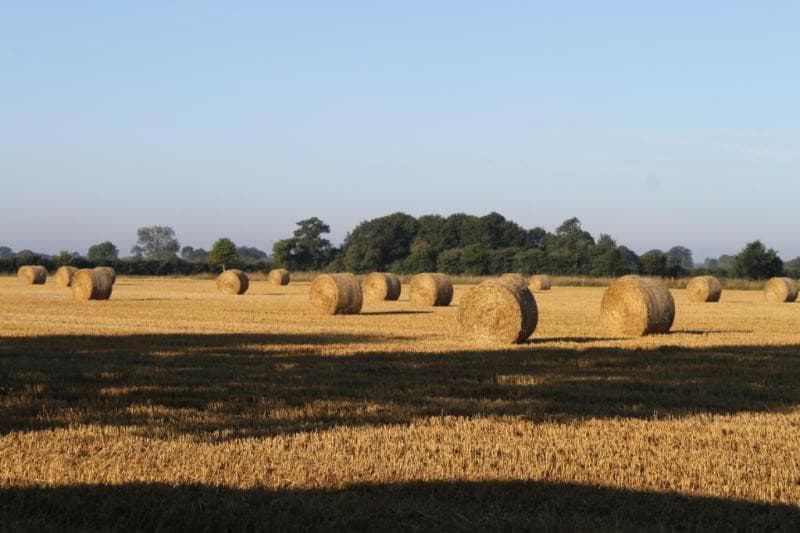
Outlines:
{"label": "dark uneven-topped tree just left of the large dense tree clump", "polygon": [[292,237],[272,245],[273,263],[290,270],[321,270],[335,252],[331,242],[323,237],[330,232],[330,227],[317,217],[297,222]]}

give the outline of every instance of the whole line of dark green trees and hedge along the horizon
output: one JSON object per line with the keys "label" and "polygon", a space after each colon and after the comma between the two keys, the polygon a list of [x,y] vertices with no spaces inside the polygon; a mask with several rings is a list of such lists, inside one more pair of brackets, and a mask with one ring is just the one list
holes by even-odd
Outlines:
{"label": "whole line of dark green trees and hedge along the horizon", "polygon": [[224,237],[209,251],[181,247],[172,228],[149,226],[139,228],[136,245],[125,258],[119,257],[119,250],[109,241],[91,246],[85,256],[68,251],[56,256],[30,250],[14,253],[0,247],[0,271],[13,272],[21,264],[49,268],[69,264],[110,265],[123,274],[150,275],[280,266],[294,271],[438,271],[474,276],[519,272],[596,277],[634,273],[674,278],[698,273],[748,279],[800,277],[800,258],[784,263],[760,241],[748,243],[736,255],[709,258],[696,265],[692,251],[684,246],[638,255],[610,235],[600,234],[595,239],[577,218],[564,221],[551,233],[540,227],[525,229],[498,213],[481,217],[393,213],[361,222],[339,247],[328,240],[329,233],[330,227],[317,217],[301,220],[291,236],[274,243],[270,256]]}

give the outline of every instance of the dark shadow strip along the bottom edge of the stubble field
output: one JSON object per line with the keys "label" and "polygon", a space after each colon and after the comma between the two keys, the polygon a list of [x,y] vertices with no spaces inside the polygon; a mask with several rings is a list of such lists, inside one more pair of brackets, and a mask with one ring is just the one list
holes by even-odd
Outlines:
{"label": "dark shadow strip along the bottom edge of the stubble field", "polygon": [[21,531],[790,531],[799,521],[788,505],[523,481],[0,489],[0,523]]}

